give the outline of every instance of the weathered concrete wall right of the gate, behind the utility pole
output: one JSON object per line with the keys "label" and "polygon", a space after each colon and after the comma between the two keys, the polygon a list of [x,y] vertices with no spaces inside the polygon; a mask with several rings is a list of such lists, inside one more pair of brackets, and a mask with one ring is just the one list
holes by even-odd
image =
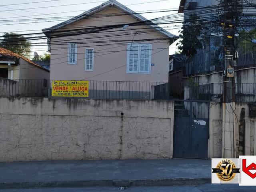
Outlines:
{"label": "weathered concrete wall right of the gate, behind the utility pole", "polygon": [[[256,155],[256,118],[249,116],[250,103],[236,103],[236,156]],[[233,115],[233,114],[232,114]],[[222,157],[222,103],[210,103],[209,158]]]}

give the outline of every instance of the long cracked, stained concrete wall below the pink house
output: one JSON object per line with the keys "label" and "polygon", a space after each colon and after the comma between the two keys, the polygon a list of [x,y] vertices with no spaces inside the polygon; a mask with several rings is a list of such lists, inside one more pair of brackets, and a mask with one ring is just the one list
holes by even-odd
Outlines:
{"label": "long cracked, stained concrete wall below the pink house", "polygon": [[0,98],[0,161],[172,158],[173,116],[170,101]]}

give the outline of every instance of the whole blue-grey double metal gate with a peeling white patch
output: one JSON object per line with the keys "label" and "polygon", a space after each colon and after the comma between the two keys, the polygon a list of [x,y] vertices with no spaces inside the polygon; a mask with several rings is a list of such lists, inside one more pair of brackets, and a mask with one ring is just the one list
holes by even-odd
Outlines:
{"label": "whole blue-grey double metal gate with a peeling white patch", "polygon": [[174,109],[173,157],[207,159],[209,103],[179,101]]}

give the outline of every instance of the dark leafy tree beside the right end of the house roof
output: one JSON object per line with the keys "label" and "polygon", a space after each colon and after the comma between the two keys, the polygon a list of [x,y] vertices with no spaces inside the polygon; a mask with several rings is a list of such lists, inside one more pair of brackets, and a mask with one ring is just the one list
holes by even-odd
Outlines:
{"label": "dark leafy tree beside the right end of the house roof", "polygon": [[198,49],[203,48],[203,43],[208,43],[207,27],[200,20],[200,16],[191,14],[188,20],[183,22],[182,31],[179,37],[180,40],[176,46],[181,51],[181,54],[192,57],[197,54]]}

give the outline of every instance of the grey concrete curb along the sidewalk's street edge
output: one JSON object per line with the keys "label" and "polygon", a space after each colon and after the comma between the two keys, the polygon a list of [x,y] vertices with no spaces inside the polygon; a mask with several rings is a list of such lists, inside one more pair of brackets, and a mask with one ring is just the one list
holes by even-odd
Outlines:
{"label": "grey concrete curb along the sidewalk's street edge", "polygon": [[0,189],[18,188],[54,188],[54,187],[95,187],[95,186],[197,186],[211,183],[211,178],[164,178],[145,180],[94,180],[94,181],[63,181],[63,182],[20,182],[0,183]]}

